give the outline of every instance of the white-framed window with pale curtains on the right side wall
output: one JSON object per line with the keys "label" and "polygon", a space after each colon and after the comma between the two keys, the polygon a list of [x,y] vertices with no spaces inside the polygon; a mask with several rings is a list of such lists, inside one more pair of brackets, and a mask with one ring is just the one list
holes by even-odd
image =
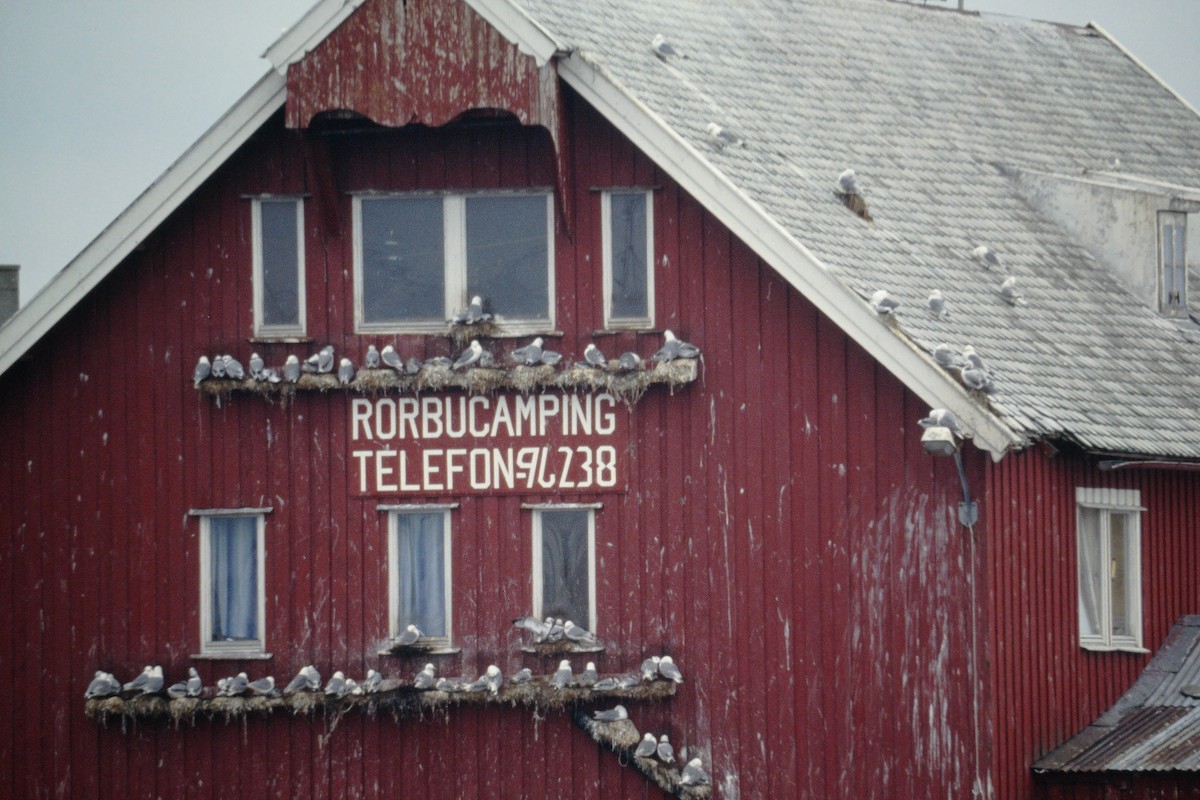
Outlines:
{"label": "white-framed window with pale curtains on the right side wall", "polygon": [[1141,650],[1141,494],[1078,488],[1079,642]]}

